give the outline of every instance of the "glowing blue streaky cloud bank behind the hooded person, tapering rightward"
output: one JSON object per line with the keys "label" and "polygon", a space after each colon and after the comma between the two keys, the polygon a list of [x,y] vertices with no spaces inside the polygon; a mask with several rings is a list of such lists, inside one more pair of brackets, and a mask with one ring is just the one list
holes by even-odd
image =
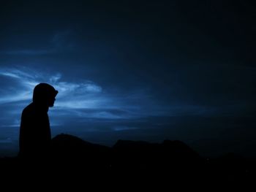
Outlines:
{"label": "glowing blue streaky cloud bank behind the hooded person, tapering rightward", "polygon": [[5,117],[1,124],[6,127],[18,124],[16,121],[20,119],[23,107],[31,102],[34,86],[39,82],[48,82],[59,91],[54,107],[49,110],[51,125],[69,126],[76,121],[81,126],[91,120],[204,115],[213,111],[196,105],[163,105],[143,88],[109,92],[108,88],[102,88],[93,80],[76,77],[76,80],[69,81],[61,72],[49,73],[23,66],[0,68],[0,78],[4,82],[0,86],[0,104],[4,106],[2,113]]}

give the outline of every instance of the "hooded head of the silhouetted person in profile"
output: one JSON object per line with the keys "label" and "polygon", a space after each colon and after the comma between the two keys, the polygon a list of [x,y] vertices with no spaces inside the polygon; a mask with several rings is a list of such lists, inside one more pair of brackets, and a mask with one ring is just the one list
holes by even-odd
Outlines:
{"label": "hooded head of the silhouetted person in profile", "polygon": [[57,94],[58,91],[52,85],[42,82],[34,87],[33,102],[46,107],[53,107]]}

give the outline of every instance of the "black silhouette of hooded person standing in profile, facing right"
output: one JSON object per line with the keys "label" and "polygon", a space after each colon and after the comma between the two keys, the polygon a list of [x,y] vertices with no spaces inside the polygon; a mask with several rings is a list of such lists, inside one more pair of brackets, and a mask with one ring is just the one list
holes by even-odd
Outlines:
{"label": "black silhouette of hooded person standing in profile, facing right", "polygon": [[52,85],[39,83],[33,102],[22,112],[20,122],[20,157],[43,158],[50,155],[50,122],[48,109],[53,107],[58,91]]}

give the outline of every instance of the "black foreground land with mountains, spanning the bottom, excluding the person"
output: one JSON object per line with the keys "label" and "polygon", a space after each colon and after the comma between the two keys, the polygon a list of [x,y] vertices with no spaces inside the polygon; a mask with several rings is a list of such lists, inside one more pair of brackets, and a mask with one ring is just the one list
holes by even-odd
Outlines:
{"label": "black foreground land with mountains, spanning the bottom, excluding the person", "polygon": [[106,147],[61,134],[53,138],[50,158],[1,158],[0,169],[2,186],[9,189],[254,191],[255,163],[234,154],[202,158],[179,141],[119,140]]}

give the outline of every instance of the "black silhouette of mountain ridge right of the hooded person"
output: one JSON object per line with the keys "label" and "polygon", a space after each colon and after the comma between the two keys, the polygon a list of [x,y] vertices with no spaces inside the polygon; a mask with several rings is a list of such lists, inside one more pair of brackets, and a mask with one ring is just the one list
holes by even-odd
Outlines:
{"label": "black silhouette of mountain ridge right of the hooded person", "polygon": [[[200,155],[184,142],[165,140],[161,144],[144,141],[118,140],[113,147],[86,142],[69,134],[59,134],[52,139],[53,158],[61,161],[83,161],[93,164],[136,167],[144,169],[165,162],[199,161]],[[102,161],[104,160],[104,161]]]}

